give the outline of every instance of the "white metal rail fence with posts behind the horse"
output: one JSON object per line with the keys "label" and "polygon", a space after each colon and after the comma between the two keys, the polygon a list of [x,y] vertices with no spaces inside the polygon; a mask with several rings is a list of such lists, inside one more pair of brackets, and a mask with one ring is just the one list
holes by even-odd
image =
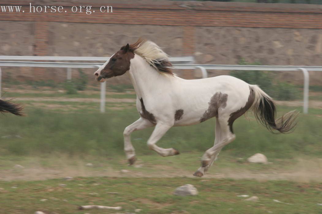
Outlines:
{"label": "white metal rail fence with posts behind the horse", "polygon": [[[64,61],[102,61],[108,57],[55,57],[55,56],[0,56],[0,60],[64,60]],[[173,57],[174,69],[201,69],[203,78],[207,77],[206,70],[257,70],[257,71],[301,71],[304,77],[303,84],[303,113],[308,113],[308,71],[322,71],[322,66],[263,66],[263,65],[207,65],[191,64],[193,57]],[[175,64],[181,63],[181,64]],[[186,63],[186,64],[184,64]],[[18,67],[53,67],[68,68],[67,79],[71,78],[71,68],[97,68],[101,63],[71,63],[71,62],[26,62],[26,61],[0,61],[0,66]],[[106,83],[101,83],[101,105],[100,111],[105,111],[105,89]],[[0,94],[1,94],[1,68],[0,68]]]}

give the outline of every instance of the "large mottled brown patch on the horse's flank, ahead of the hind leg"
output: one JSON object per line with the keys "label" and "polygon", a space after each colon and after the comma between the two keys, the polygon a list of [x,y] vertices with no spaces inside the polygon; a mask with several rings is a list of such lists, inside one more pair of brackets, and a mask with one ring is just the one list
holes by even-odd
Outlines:
{"label": "large mottled brown patch on the horse's flank, ahead of the hind leg", "polygon": [[227,94],[224,94],[222,92],[217,92],[215,93],[210,101],[209,101],[209,107],[208,109],[204,112],[203,116],[200,118],[200,123],[218,116],[218,108],[225,108],[227,105]]}

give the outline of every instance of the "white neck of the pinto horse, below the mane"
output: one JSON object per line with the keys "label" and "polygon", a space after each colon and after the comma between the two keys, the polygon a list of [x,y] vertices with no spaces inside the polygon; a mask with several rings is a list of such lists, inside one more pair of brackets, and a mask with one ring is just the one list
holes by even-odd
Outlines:
{"label": "white neck of the pinto horse, below the mane", "polygon": [[167,88],[171,78],[166,76],[167,74],[157,72],[138,55],[131,59],[128,74],[139,98],[145,98],[157,90]]}

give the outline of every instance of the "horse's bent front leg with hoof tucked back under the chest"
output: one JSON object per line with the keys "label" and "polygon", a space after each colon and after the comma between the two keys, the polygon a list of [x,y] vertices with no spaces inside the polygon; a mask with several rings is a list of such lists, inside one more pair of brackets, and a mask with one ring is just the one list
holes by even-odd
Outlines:
{"label": "horse's bent front leg with hoof tucked back under the chest", "polygon": [[161,137],[172,127],[172,125],[164,124],[161,122],[158,122],[156,124],[155,129],[153,130],[150,138],[147,141],[147,146],[151,149],[156,151],[159,155],[166,157],[166,156],[173,156],[178,155],[179,151],[170,148],[170,149],[163,149],[161,147],[158,147],[156,145],[156,142],[161,139]]}

